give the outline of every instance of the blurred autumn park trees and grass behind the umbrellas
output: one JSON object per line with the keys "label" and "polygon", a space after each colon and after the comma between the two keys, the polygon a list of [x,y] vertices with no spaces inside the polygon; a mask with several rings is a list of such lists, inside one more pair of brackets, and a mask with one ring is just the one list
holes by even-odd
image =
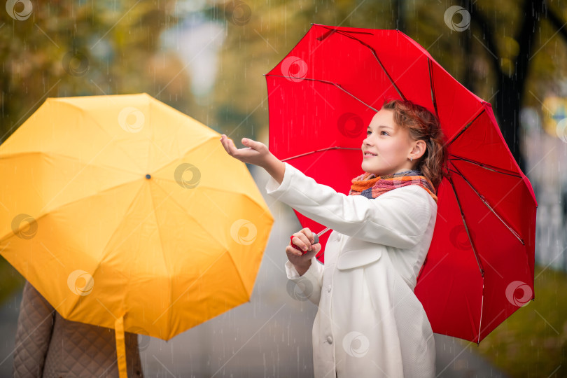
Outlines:
{"label": "blurred autumn park trees and grass behind the umbrellas", "polygon": [[[447,21],[450,6],[465,13]],[[491,102],[538,200],[538,267],[535,301],[472,350],[512,377],[566,377],[567,0],[18,1],[0,9],[0,143],[47,97],[147,92],[267,144],[262,75],[311,22],[400,29]],[[0,304],[22,282],[2,259]]]}

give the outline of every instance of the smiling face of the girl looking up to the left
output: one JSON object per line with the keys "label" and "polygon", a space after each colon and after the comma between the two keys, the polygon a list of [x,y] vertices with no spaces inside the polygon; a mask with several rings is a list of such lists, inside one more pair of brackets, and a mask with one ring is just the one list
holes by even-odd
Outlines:
{"label": "smiling face of the girl looking up to the left", "polygon": [[394,123],[393,111],[381,109],[368,125],[361,167],[376,176],[404,172],[414,169],[424,152],[425,142],[410,139],[409,131]]}

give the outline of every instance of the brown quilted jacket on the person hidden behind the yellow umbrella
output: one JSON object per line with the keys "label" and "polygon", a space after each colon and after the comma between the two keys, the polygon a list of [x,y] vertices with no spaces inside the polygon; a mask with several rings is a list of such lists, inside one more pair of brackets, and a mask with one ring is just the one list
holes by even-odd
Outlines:
{"label": "brown quilted jacket on the person hidden behind the yellow umbrella", "polygon": [[[125,332],[128,377],[142,377],[137,335]],[[14,377],[118,377],[114,330],[67,321],[26,281]]]}

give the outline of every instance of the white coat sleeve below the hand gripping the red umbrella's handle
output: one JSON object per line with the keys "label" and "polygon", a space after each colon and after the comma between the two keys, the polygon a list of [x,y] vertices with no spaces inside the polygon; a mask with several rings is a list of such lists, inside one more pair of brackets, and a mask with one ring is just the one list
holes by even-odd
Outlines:
{"label": "white coat sleeve below the hand gripping the red umbrella's handle", "polygon": [[315,257],[311,258],[311,266],[300,276],[293,264],[286,262],[288,276],[288,293],[293,299],[308,299],[319,304],[321,299],[321,286],[323,282],[323,265]]}

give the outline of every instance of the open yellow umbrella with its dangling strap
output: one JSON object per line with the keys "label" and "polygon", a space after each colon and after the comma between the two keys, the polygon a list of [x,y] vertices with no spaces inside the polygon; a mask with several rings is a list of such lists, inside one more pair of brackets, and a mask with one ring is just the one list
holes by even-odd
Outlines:
{"label": "open yellow umbrella with its dangling strap", "polygon": [[64,318],[161,339],[250,299],[274,218],[221,134],[148,94],[48,98],[0,146],[0,251]]}

